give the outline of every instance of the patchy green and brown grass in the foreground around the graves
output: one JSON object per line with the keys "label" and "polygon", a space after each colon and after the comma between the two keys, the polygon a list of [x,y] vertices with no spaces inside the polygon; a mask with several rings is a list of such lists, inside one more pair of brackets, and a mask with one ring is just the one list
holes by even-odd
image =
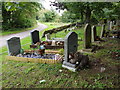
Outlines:
{"label": "patchy green and brown grass in the foreground around the graves", "polygon": [[[99,28],[101,29],[101,28]],[[83,28],[73,30],[83,40]],[[51,37],[64,38],[64,31],[52,34]],[[25,39],[27,42],[28,38]],[[44,39],[43,39],[44,40]],[[116,39],[105,39],[99,45],[103,48],[95,53],[86,53],[90,57],[90,67],[79,72],[71,72],[61,64],[40,64],[30,62],[2,61],[3,88],[119,88],[118,66],[120,53]],[[25,43],[22,42],[23,43]],[[28,40],[29,41],[29,40]],[[30,41],[29,41],[30,42]],[[79,41],[78,50],[83,48]],[[28,49],[26,46],[24,49]],[[114,55],[115,54],[115,55]],[[105,71],[100,72],[101,68]],[[62,71],[61,71],[62,70]],[[45,82],[40,83],[41,80]]]}

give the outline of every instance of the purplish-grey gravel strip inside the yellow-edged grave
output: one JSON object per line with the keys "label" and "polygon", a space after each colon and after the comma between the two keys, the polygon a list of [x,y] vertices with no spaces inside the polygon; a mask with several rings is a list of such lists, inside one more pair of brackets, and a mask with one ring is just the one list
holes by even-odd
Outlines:
{"label": "purplish-grey gravel strip inside the yellow-edged grave", "polygon": [[25,58],[40,58],[40,59],[54,59],[56,58],[56,54],[44,54],[44,55],[37,55],[37,54],[18,54],[17,57],[25,57]]}

